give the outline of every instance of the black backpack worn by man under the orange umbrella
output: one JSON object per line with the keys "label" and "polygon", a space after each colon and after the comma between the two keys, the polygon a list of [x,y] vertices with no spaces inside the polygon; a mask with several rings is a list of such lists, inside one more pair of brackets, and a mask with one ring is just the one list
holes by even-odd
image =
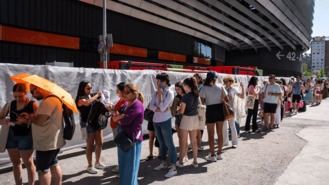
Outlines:
{"label": "black backpack worn by man under the orange umbrella", "polygon": [[[48,97],[58,98],[55,95],[51,95]],[[72,140],[75,131],[75,120],[74,120],[73,111],[70,108],[68,108],[60,98],[58,99],[62,102],[62,108],[63,108],[63,128],[64,128],[63,138],[65,140]]]}

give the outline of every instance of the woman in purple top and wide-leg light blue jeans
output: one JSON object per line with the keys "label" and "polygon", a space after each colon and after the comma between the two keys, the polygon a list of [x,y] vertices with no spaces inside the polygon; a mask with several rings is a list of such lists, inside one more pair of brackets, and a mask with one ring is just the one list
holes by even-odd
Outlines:
{"label": "woman in purple top and wide-leg light blue jeans", "polygon": [[133,145],[128,151],[118,148],[120,185],[138,185],[137,177],[143,141],[144,98],[134,84],[125,85],[124,98],[128,103],[127,107],[122,114],[115,115],[113,120],[120,124],[120,132],[124,132]]}

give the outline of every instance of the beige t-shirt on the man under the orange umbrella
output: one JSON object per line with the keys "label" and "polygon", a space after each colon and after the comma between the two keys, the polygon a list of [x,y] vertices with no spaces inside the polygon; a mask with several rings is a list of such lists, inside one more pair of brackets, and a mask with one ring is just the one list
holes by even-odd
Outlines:
{"label": "beige t-shirt on the man under the orange umbrella", "polygon": [[49,119],[42,125],[32,124],[33,146],[37,151],[60,149],[64,146],[63,109],[57,97],[44,99],[36,115],[47,115]]}

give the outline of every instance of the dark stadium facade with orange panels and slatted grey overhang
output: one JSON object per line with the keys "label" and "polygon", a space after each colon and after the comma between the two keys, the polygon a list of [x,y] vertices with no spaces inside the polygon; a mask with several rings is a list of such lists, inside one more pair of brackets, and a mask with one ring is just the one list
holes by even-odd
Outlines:
{"label": "dark stadium facade with orange panels and slatted grey overhang", "polygon": [[[111,60],[301,72],[314,0],[108,0]],[[102,0],[1,0],[0,62],[99,67]]]}

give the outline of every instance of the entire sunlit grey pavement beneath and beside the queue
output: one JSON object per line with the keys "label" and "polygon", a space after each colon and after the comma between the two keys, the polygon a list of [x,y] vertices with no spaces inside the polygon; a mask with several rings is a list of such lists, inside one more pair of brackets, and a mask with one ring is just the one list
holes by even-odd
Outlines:
{"label": "entire sunlit grey pavement beneath and beside the queue", "polygon": [[[208,163],[207,138],[205,151],[199,155],[199,167],[188,165],[178,169],[178,175],[166,179],[166,171],[153,171],[158,160],[145,161],[148,141],[143,142],[139,184],[146,185],[286,185],[323,184],[328,167],[328,126],[325,121],[329,100],[308,112],[287,118],[280,129],[267,134],[245,134],[239,139],[237,149],[226,147],[223,160]],[[177,136],[174,135],[177,145]],[[102,160],[108,168],[97,175],[85,172],[86,159],[82,149],[70,151],[60,160],[66,185],[119,184],[119,178],[111,172],[116,164],[116,148],[106,143]],[[191,154],[190,154],[191,158]],[[190,161],[192,162],[192,161]],[[0,184],[14,184],[12,172],[0,173]],[[27,177],[24,172],[24,182]]]}

